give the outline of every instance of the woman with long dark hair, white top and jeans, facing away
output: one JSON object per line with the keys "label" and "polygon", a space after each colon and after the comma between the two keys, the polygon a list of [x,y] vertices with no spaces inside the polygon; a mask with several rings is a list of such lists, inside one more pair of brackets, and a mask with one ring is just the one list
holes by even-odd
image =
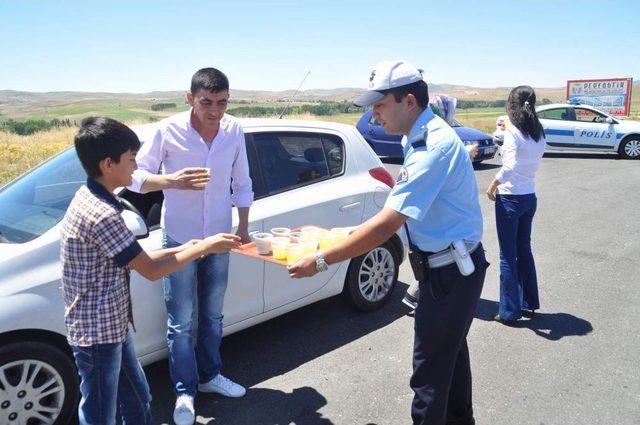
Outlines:
{"label": "woman with long dark hair, white top and jeans, facing away", "polygon": [[511,90],[507,113],[511,125],[504,132],[502,168],[487,196],[495,201],[500,244],[500,322],[518,320],[523,310],[540,308],[536,265],[531,253],[531,223],[536,212],[535,176],[545,148],[545,135],[535,110],[536,95],[529,86]]}

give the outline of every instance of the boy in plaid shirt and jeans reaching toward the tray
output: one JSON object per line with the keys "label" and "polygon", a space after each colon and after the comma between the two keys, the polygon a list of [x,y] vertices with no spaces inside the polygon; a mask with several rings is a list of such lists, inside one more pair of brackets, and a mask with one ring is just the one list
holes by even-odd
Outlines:
{"label": "boy in plaid shirt and jeans reaching toward the tray", "polygon": [[87,118],[75,136],[88,174],[63,220],[62,292],[67,339],[80,374],[82,424],[151,424],[151,395],[128,332],[132,322],[129,271],[155,281],[191,261],[239,246],[218,234],[147,253],[125,226],[113,191],[129,186],[140,141],[124,124]]}

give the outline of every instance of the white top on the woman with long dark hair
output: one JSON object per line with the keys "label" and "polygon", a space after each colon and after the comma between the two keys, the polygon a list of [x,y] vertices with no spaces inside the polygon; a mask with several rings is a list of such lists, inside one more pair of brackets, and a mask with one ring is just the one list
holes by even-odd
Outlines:
{"label": "white top on the woman with long dark hair", "polygon": [[504,142],[500,148],[502,168],[496,174],[500,182],[501,195],[526,195],[536,191],[536,171],[540,167],[546,142],[544,137],[537,142],[525,137],[515,125],[504,132]]}

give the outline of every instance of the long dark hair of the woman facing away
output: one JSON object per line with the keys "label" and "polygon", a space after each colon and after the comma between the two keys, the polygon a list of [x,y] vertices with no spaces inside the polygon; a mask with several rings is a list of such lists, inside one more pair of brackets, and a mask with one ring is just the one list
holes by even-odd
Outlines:
{"label": "long dark hair of the woman facing away", "polygon": [[536,92],[530,86],[518,86],[511,90],[507,99],[507,114],[511,124],[525,136],[536,142],[545,137],[536,113]]}

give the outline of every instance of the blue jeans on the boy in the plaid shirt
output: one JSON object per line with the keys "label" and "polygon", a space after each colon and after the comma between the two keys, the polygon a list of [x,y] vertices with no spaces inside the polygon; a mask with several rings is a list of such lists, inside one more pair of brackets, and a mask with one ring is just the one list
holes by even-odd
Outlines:
{"label": "blue jeans on the boy in the plaid shirt", "polygon": [[[80,374],[82,425],[151,425],[151,393],[131,337],[121,344],[72,346]],[[119,422],[119,421],[118,421]]]}

